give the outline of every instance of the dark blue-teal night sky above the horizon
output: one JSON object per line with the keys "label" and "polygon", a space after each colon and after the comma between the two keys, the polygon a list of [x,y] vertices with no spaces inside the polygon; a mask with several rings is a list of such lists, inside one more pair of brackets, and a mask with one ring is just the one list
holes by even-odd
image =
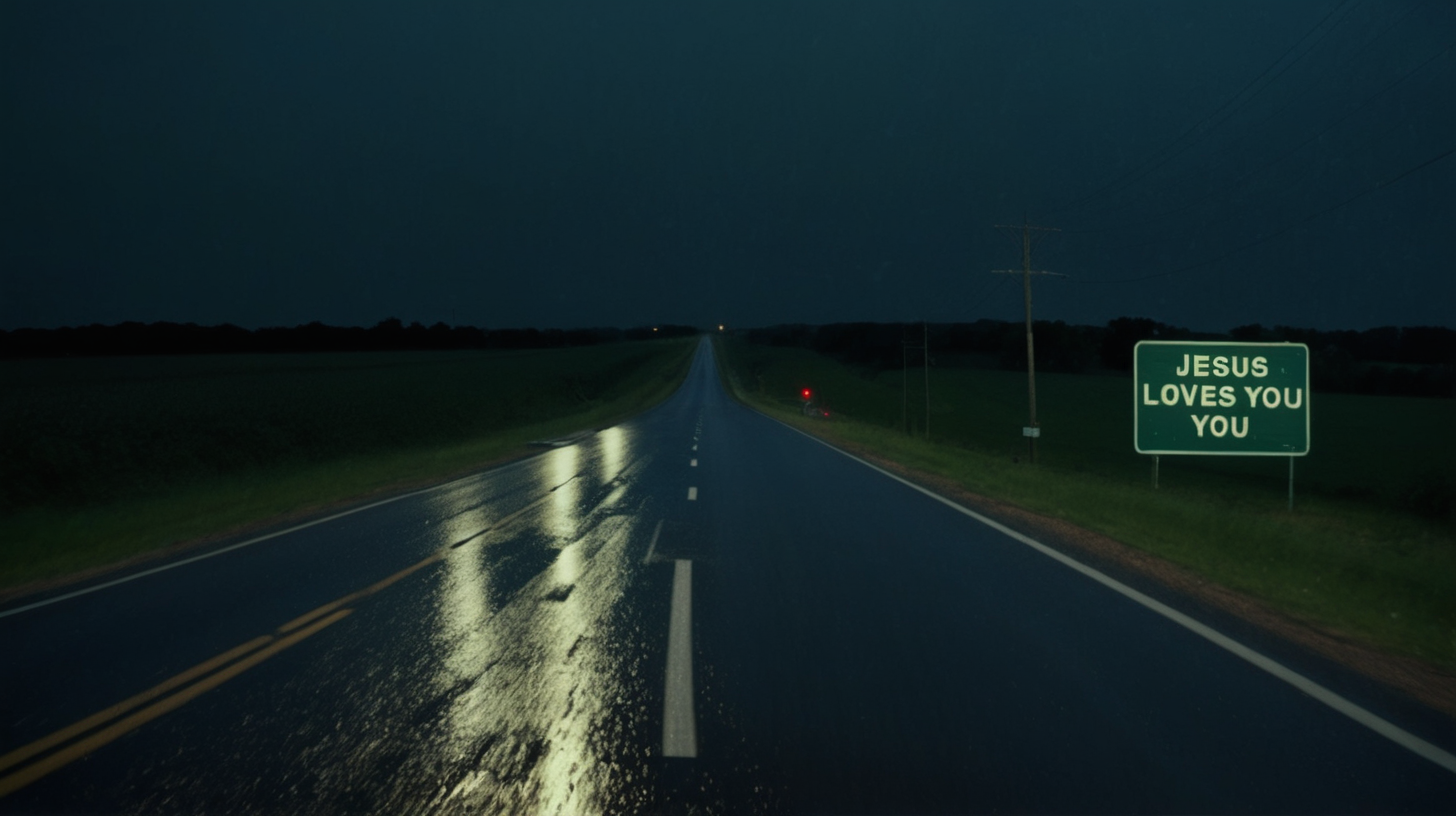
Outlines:
{"label": "dark blue-teal night sky above the horizon", "polygon": [[1038,318],[1450,326],[1453,35],[1443,0],[6,0],[0,328],[1016,319],[1024,214],[1072,275]]}

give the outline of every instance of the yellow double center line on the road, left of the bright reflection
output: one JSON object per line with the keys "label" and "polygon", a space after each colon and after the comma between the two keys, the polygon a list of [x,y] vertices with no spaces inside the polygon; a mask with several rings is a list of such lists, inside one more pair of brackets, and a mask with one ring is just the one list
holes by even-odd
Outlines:
{"label": "yellow double center line on the road, left of the bright reflection", "polygon": [[[185,672],[162,680],[141,694],[0,756],[0,772],[20,765],[19,769],[0,777],[0,797],[9,796],[51,771],[86,756],[167,711],[181,708],[202,692],[226,683],[290,646],[342,621],[354,612],[348,609],[349,603],[368,597],[405,576],[440,561],[443,557],[444,551],[435,552],[424,561],[405,567],[381,581],[288,621],[271,635],[261,635],[233,647],[217,657],[204,660]],[[45,753],[57,746],[64,748],[48,755]],[[41,759],[23,765],[35,756],[41,756]]]}

